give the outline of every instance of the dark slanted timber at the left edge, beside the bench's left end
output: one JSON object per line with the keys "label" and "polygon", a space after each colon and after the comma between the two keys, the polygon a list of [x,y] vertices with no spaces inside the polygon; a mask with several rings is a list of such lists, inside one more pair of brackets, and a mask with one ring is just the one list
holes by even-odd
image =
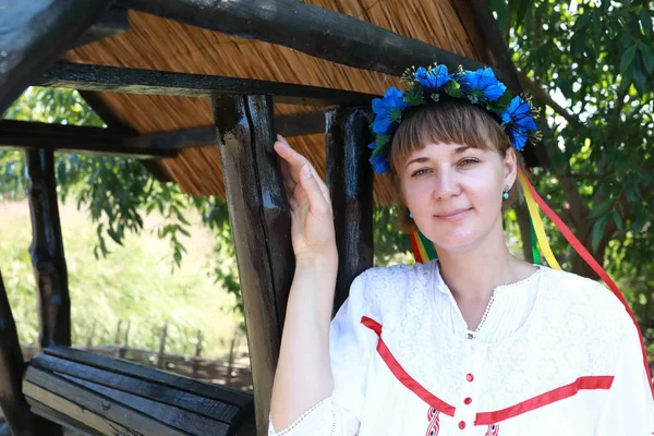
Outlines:
{"label": "dark slanted timber at the left edge, beside the bench's left end", "polygon": [[0,274],[0,408],[15,436],[37,436],[35,416],[21,389],[25,363]]}

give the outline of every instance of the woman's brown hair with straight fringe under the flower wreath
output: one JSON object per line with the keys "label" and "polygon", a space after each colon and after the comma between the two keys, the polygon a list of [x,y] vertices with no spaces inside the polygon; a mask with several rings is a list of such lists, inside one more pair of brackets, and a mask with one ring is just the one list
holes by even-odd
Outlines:
{"label": "woman's brown hair with straight fringe under the flower wreath", "polygon": [[[398,227],[404,232],[415,231],[415,223],[409,217],[409,209],[401,199],[398,169],[414,150],[424,148],[428,143],[465,144],[484,150],[496,150],[502,158],[512,146],[499,120],[467,101],[444,99],[437,105],[405,110],[388,153],[392,184],[396,187],[396,203],[399,206]],[[520,154],[517,153],[516,157],[518,166],[523,168]],[[502,213],[508,210],[517,198],[518,183],[513,183],[509,198],[502,204]]]}

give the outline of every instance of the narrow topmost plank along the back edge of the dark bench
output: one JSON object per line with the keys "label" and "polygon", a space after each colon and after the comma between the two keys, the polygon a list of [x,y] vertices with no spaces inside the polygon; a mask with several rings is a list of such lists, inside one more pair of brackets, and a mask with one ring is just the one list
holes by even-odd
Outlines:
{"label": "narrow topmost plank along the back edge of the dark bench", "polygon": [[173,405],[228,424],[231,424],[242,413],[238,407],[229,403],[226,404],[213,398],[202,397],[135,376],[117,374],[66,361],[45,353],[36,355],[29,364],[62,376],[74,376],[80,380],[77,383],[81,383],[81,380],[93,382],[98,386],[108,386],[117,391],[137,395],[145,399],[156,400],[162,404]]}

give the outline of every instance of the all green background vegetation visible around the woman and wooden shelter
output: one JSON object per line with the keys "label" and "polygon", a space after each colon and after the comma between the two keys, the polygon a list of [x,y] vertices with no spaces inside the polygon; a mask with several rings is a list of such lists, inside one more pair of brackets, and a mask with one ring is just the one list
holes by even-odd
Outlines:
{"label": "all green background vegetation visible around the woman and wooden shelter", "polygon": [[[537,191],[625,292],[654,351],[654,10],[649,1],[492,0],[525,89],[543,106]],[[3,118],[102,126],[77,93],[31,88]],[[36,338],[35,286],[24,157],[0,152],[0,268],[21,339]],[[130,344],[192,353],[196,330],[210,355],[225,354],[243,328],[227,207],[156,181],[137,161],[57,155],[74,341],[112,342],[131,320]],[[9,203],[8,203],[9,202]],[[19,203],[14,203],[19,202]],[[375,264],[407,262],[395,210],[375,210]],[[516,214],[506,220],[521,253]],[[548,237],[564,269],[593,277],[554,226]]]}

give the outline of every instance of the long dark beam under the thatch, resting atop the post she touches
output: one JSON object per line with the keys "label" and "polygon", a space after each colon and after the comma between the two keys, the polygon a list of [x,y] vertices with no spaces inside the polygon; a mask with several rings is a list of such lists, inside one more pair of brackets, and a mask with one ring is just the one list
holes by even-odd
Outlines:
{"label": "long dark beam under the thatch, resting atop the post she touches", "polygon": [[275,96],[276,102],[303,106],[365,106],[378,97],[373,94],[294,83],[80,63],[58,63],[45,72],[40,80],[33,82],[33,85],[182,97],[256,93]]}

